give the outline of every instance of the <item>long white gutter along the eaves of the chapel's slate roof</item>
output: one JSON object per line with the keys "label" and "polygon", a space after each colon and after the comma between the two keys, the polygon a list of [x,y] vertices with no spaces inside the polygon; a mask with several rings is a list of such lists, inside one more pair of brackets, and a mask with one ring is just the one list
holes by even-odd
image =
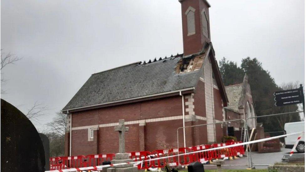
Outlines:
{"label": "long white gutter along the eaves of the chapel's slate roof", "polygon": [[189,88],[184,88],[184,89],[180,89],[180,90],[162,92],[162,93],[151,94],[151,95],[147,95],[147,96],[134,97],[134,98],[123,99],[123,100],[118,100],[118,101],[113,101],[113,102],[106,102],[106,103],[100,103],[100,104],[83,106],[83,107],[75,107],[75,108],[70,108],[70,109],[63,109],[62,112],[63,111],[77,110],[77,109],[82,109],[82,108],[87,108],[87,107],[107,105],[107,104],[112,104],[112,103],[126,102],[126,101],[130,101],[130,100],[137,100],[137,99],[142,99],[142,98],[147,98],[147,97],[161,96],[161,95],[166,95],[166,94],[171,94],[171,93],[176,93],[176,92],[182,92],[182,91],[188,91],[188,90],[193,90],[193,89],[194,89],[194,87],[189,87]]}

